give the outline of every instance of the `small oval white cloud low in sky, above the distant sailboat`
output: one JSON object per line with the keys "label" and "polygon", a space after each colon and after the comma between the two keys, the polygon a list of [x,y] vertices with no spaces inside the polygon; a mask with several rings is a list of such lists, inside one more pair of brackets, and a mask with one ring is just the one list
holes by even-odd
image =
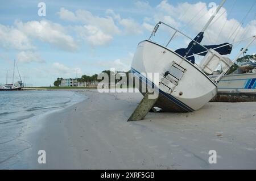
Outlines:
{"label": "small oval white cloud low in sky, above the distant sailboat", "polygon": [[45,63],[46,61],[43,60],[38,54],[31,51],[22,51],[17,54],[16,56],[18,62],[20,63],[31,63],[31,62],[37,62],[37,63]]}

